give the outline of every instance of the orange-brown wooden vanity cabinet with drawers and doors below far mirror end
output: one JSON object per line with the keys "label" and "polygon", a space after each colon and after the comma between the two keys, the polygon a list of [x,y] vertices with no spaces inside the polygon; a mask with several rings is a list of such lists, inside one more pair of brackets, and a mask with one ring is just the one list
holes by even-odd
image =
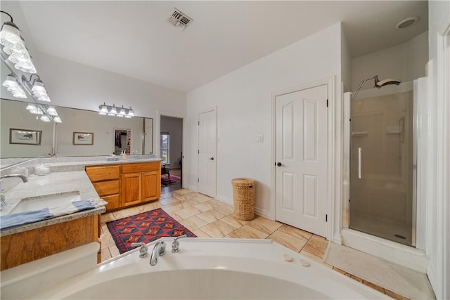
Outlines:
{"label": "orange-brown wooden vanity cabinet with drawers and doors below far mirror end", "polygon": [[86,167],[86,174],[108,202],[107,211],[158,200],[161,195],[160,162]]}

